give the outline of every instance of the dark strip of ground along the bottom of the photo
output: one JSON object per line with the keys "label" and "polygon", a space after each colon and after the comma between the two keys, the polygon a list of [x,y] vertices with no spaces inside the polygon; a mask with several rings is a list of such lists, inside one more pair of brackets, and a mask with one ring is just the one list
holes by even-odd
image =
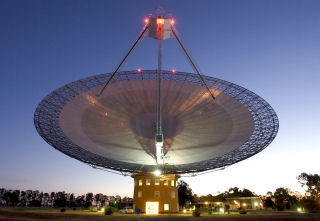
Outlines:
{"label": "dark strip of ground along the bottom of the photo", "polygon": [[67,209],[66,212],[60,212],[58,208],[8,208],[0,207],[0,221],[38,221],[38,220],[59,220],[59,221],[76,221],[76,220],[88,220],[88,221],[152,221],[152,220],[169,220],[169,221],[293,221],[293,220],[312,220],[320,221],[320,213],[318,214],[306,214],[297,213],[294,211],[289,212],[276,212],[276,211],[252,211],[248,214],[201,214],[198,218],[193,218],[190,213],[184,214],[171,214],[171,215],[136,215],[136,214],[119,214],[114,213],[111,216],[105,216],[102,212],[90,212],[88,210],[75,210]]}

